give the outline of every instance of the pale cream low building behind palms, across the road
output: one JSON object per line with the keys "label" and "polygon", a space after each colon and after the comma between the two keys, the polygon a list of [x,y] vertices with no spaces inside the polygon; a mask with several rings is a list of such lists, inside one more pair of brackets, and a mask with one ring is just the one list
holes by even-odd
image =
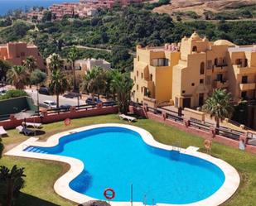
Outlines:
{"label": "pale cream low building behind palms, across the road", "polygon": [[[47,74],[51,73],[49,68],[51,62],[51,55],[46,59],[47,65]],[[102,67],[103,69],[111,69],[111,64],[106,60],[95,60],[95,59],[85,59],[85,60],[76,60],[75,61],[75,77],[76,79],[82,79],[87,71],[93,69],[94,66]],[[72,72],[72,65],[68,60],[63,59],[63,71],[66,73]]]}

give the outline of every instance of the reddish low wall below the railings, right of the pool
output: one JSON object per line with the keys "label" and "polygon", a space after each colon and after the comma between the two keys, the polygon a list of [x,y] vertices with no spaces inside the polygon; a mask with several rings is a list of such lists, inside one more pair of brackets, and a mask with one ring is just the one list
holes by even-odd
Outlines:
{"label": "reddish low wall below the railings, right of the pool", "polygon": [[[239,141],[235,141],[233,139],[230,139],[228,137],[223,137],[220,135],[215,135],[215,128],[211,128],[210,131],[201,130],[195,127],[191,127],[189,121],[187,120],[184,120],[184,122],[176,122],[166,118],[166,113],[162,113],[162,115],[158,115],[155,113],[147,112],[146,108],[130,107],[130,112],[136,113],[140,116],[142,116],[141,114],[143,114],[142,117],[147,117],[148,119],[165,123],[171,127],[176,127],[184,132],[188,132],[193,135],[203,137],[204,139],[210,139],[212,141],[220,142],[226,146],[233,146],[234,148],[239,149]],[[256,146],[246,145],[245,151],[249,151],[256,154]]]}

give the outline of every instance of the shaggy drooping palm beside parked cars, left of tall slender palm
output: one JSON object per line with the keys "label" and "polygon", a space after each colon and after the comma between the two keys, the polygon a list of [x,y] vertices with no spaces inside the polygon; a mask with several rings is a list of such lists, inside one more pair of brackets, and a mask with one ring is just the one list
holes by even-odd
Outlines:
{"label": "shaggy drooping palm beside parked cars, left of tall slender palm", "polygon": [[56,94],[57,108],[59,108],[59,96],[70,88],[65,74],[60,69],[51,72],[51,82],[49,84],[49,92]]}

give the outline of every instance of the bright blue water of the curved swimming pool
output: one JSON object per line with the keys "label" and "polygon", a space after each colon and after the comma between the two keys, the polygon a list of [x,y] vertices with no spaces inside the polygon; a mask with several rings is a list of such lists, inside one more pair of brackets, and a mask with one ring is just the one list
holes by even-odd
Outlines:
{"label": "bright blue water of the curved swimming pool", "polygon": [[58,146],[29,146],[33,151],[80,159],[85,170],[70,188],[95,199],[104,199],[104,189],[113,188],[114,201],[152,201],[189,204],[206,199],[225,181],[212,163],[148,146],[137,132],[122,127],[99,127],[60,138]]}

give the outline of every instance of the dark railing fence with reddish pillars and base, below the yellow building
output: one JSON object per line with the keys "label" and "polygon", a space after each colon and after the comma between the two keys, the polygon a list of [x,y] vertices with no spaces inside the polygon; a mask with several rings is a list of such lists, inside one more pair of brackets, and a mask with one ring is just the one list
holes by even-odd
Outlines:
{"label": "dark railing fence with reddish pillars and base, below the yellow building", "polygon": [[141,104],[131,104],[130,111],[143,117],[147,117],[158,122],[164,122],[168,125],[178,127],[183,131],[200,135],[200,137],[213,138],[229,146],[239,147],[239,141],[244,140],[246,150],[256,153],[256,145],[251,144],[249,139],[255,139],[254,132],[240,132],[227,127],[215,128],[210,122],[200,122],[196,119],[186,119],[182,113],[177,113],[169,109],[151,108]]}

